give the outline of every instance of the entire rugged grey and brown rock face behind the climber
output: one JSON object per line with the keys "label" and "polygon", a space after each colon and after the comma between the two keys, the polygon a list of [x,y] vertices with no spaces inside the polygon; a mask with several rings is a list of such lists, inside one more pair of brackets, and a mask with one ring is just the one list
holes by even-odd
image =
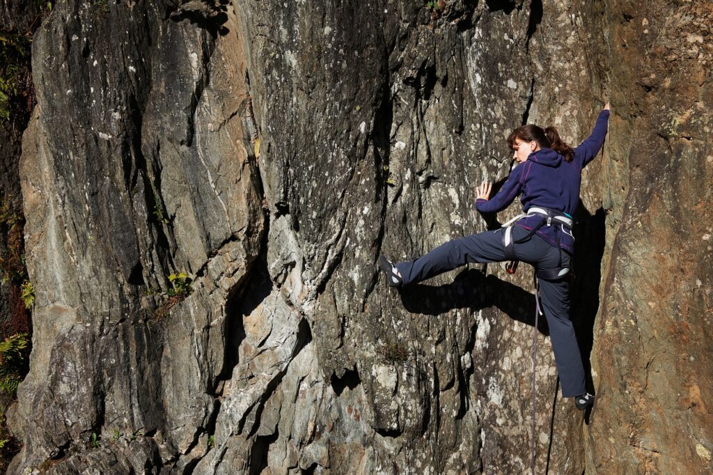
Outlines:
{"label": "entire rugged grey and brown rock face behind the climber", "polygon": [[[60,2],[20,167],[36,303],[11,473],[523,473],[532,438],[537,473],[709,471],[710,16]],[[376,257],[485,230],[474,188],[508,175],[509,131],[574,145],[609,97],[573,297],[599,402],[583,425],[539,334],[530,434],[530,270],[396,292]]]}

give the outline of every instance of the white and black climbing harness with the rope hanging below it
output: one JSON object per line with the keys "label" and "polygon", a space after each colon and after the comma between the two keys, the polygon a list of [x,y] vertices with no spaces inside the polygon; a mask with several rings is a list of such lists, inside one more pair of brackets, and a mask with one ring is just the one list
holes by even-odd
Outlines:
{"label": "white and black climbing harness with the rope hanging below it", "polygon": [[[529,230],[527,235],[520,237],[520,239],[518,240],[514,240],[513,225],[517,221],[523,218],[529,218],[531,216],[540,216],[542,219],[538,222],[537,225],[535,225],[531,230]],[[506,270],[508,271],[508,274],[514,274],[515,270],[517,270],[518,268],[519,261],[515,257],[515,243],[525,242],[526,240],[530,239],[530,237],[532,237],[532,235],[535,234],[538,229],[542,228],[543,225],[546,224],[548,226],[551,226],[553,225],[553,223],[555,223],[555,225],[560,225],[563,233],[569,234],[570,236],[572,235],[573,220],[570,215],[558,210],[550,210],[549,208],[543,208],[540,206],[533,206],[529,210],[527,210],[527,213],[515,216],[515,218],[503,224],[503,228],[505,228],[505,233],[503,233],[503,250],[505,252],[506,259],[510,261],[506,265]],[[538,269],[538,267],[535,266],[535,272],[533,274],[533,280],[535,285],[535,328],[533,331],[533,423],[532,431],[530,434],[530,471],[532,471],[533,475],[535,474],[535,371],[537,369],[537,329],[540,320],[539,316],[543,315],[542,308],[540,307],[540,285],[538,284],[538,277],[545,280],[558,280],[561,277],[564,277],[565,275],[569,274],[569,260],[567,260],[566,265],[563,265],[562,248],[560,247],[559,239],[557,242],[557,247],[560,251],[560,261],[558,262],[558,267],[556,269],[542,270]]]}

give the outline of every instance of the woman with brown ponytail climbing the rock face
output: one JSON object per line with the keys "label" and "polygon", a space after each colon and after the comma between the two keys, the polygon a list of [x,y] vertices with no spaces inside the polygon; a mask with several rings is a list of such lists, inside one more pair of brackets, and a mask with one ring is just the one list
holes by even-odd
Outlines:
{"label": "woman with brown ponytail climbing the rock face", "polygon": [[386,282],[392,287],[421,282],[468,262],[521,260],[533,265],[562,396],[574,397],[578,409],[592,406],[594,396],[585,389],[584,367],[569,316],[572,216],[579,201],[582,169],[602,148],[608,118],[607,103],[592,134],[575,148],[563,143],[554,127],[543,130],[528,125],[510,134],[508,145],[518,165],[492,200],[488,200],[491,183],[483,181],[477,187],[476,208],[484,213],[501,211],[520,195],[526,214],[520,215],[512,227],[451,240],[416,260],[392,264],[383,255],[379,257],[379,269],[386,273]]}

